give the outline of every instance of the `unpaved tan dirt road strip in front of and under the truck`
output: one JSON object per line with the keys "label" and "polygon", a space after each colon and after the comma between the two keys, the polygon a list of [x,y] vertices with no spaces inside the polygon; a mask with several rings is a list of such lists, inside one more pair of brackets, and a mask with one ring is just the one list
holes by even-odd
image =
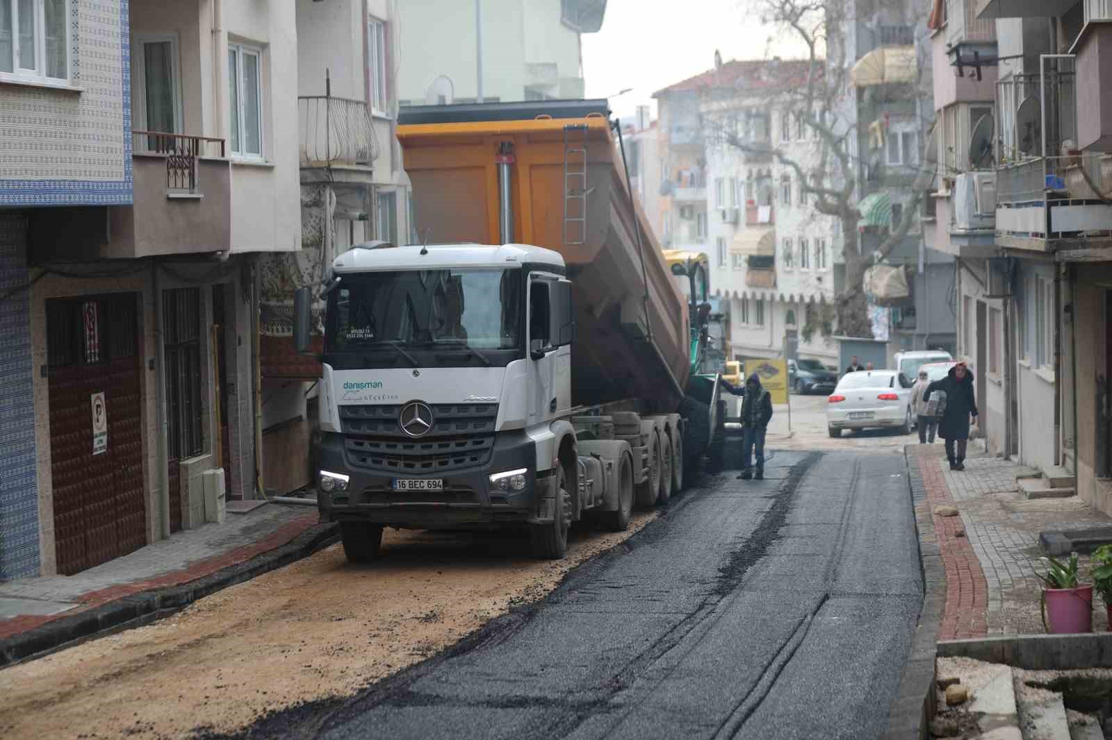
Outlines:
{"label": "unpaved tan dirt road strip in front of and under the truck", "polygon": [[394,532],[384,558],[339,546],[148,627],[0,671],[0,737],[178,738],[234,731],[298,702],[348,696],[545,597],[622,533],[573,530],[557,562],[506,534]]}

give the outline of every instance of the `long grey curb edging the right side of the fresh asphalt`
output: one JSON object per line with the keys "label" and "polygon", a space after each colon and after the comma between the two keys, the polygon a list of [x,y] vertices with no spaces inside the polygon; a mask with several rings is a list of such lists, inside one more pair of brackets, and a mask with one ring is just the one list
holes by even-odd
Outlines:
{"label": "long grey curb edging the right side of the fresh asphalt", "polygon": [[946,571],[934,534],[934,518],[926,498],[926,484],[917,460],[904,448],[907,483],[919,534],[923,606],[912,638],[911,653],[900,677],[900,689],[888,707],[887,729],[882,740],[930,737],[934,718],[934,661],[943,609],[946,604]]}

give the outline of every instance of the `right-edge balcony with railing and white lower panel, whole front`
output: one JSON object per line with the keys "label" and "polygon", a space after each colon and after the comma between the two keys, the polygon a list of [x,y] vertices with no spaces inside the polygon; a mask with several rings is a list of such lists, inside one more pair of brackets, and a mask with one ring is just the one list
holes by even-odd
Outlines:
{"label": "right-edge balcony with railing and white lower panel, whole front", "polygon": [[1050,251],[1112,237],[1112,162],[1103,154],[1034,157],[996,170],[996,241]]}

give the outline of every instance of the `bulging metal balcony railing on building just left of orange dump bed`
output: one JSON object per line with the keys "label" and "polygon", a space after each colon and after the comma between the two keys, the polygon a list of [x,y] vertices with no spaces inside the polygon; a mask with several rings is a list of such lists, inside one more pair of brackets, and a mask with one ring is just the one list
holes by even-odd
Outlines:
{"label": "bulging metal balcony railing on building just left of orange dump bed", "polygon": [[301,167],[370,164],[378,158],[370,109],[361,100],[330,96],[297,99]]}

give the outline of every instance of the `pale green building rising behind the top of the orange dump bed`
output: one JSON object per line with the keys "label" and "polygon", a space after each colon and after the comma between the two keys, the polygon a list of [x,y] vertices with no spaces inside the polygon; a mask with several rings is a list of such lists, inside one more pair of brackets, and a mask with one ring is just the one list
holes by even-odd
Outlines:
{"label": "pale green building rising behind the top of the orange dump bed", "polygon": [[580,37],[606,0],[424,0],[398,4],[403,106],[584,97]]}

